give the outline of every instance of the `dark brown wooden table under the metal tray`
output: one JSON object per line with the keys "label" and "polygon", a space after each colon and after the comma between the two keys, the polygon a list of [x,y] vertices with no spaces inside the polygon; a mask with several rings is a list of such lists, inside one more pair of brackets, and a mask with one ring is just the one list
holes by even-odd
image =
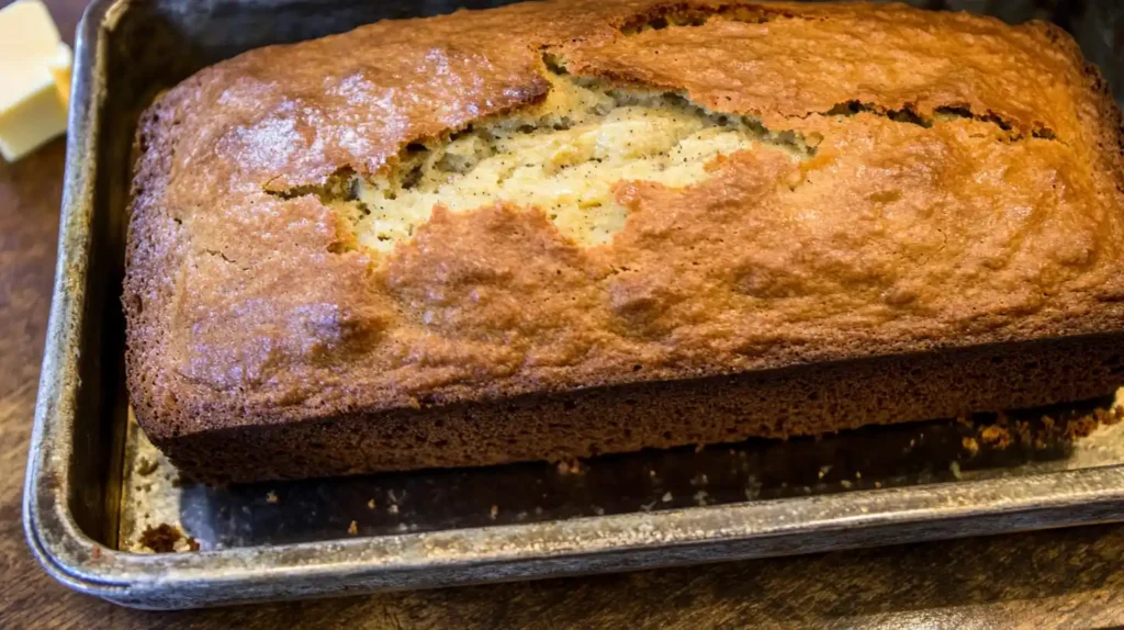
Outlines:
{"label": "dark brown wooden table under the metal tray", "polygon": [[[73,34],[82,0],[48,4]],[[129,611],[72,593],[35,564],[20,523],[63,154],[56,140],[0,162],[0,628],[1124,624],[1124,526],[202,612]]]}

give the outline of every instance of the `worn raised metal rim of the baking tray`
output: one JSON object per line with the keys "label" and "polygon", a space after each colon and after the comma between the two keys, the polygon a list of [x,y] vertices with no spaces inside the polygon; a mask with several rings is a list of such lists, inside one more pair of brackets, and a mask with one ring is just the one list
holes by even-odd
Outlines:
{"label": "worn raised metal rim of the baking tray", "polygon": [[[484,583],[744,559],[1124,520],[1124,465],[864,490],[652,513],[397,536],[135,554],[87,536],[66,503],[81,314],[106,90],[107,33],[134,0],[94,0],[78,29],[58,259],[24,493],[38,561],[63,584],[125,605]],[[799,515],[795,515],[797,511]],[[815,535],[815,536],[813,536]],[[631,559],[629,559],[631,558]]]}

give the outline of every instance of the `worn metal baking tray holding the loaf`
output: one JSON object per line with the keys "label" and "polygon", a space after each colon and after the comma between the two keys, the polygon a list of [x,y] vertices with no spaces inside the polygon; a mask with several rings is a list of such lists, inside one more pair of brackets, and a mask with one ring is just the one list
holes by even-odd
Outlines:
{"label": "worn metal baking tray holding the loaf", "polygon": [[[501,2],[465,4],[493,3]],[[1122,11],[1112,0],[1078,4],[1080,12],[1041,0],[959,8],[1059,21],[1121,94]],[[1124,519],[1124,423],[1075,437],[1085,432],[1075,418],[1108,400],[1015,413],[1005,424],[937,420],[609,456],[575,469],[520,464],[226,489],[179,483],[130,419],[123,380],[118,299],[139,112],[161,89],[248,48],[455,6],[90,7],[78,36],[58,271],[25,493],[28,541],[54,577],[120,604],[175,609]],[[143,553],[144,531],[162,523],[182,529],[198,551]]]}

